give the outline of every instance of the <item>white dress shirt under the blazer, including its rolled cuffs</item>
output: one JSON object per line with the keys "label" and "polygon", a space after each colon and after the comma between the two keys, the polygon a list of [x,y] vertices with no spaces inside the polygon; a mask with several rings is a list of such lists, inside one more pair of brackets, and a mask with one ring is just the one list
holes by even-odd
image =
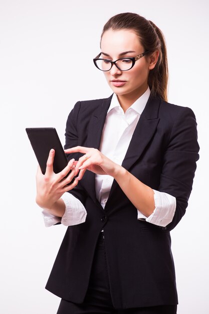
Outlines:
{"label": "white dress shirt under the blazer, including its rolled cuffs", "polygon": [[[147,103],[149,95],[150,89],[148,87],[146,92],[124,113],[119,104],[117,95],[113,94],[102,132],[100,151],[118,165],[121,165],[124,160],[136,124]],[[96,197],[103,208],[109,197],[113,180],[113,177],[108,175],[95,176]],[[137,209],[137,218],[165,227],[173,219],[176,199],[167,193],[156,190],[153,191],[155,202],[153,213],[149,217],[146,217]],[[68,192],[63,194],[62,199],[66,205],[63,217],[56,217],[49,214],[47,210],[44,210],[45,225],[49,227],[61,222],[65,226],[71,226],[85,222],[87,212],[83,204]]]}

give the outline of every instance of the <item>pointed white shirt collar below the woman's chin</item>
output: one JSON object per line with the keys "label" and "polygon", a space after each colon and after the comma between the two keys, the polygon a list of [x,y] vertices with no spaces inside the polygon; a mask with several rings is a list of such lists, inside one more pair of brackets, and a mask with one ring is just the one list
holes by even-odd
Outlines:
{"label": "pointed white shirt collar below the woman's chin", "polygon": [[[136,101],[128,108],[128,110],[131,108],[135,110],[137,113],[141,114],[146,106],[149,96],[150,89],[148,86],[147,90],[138,99],[136,99]],[[120,107],[120,103],[118,101],[117,95],[114,93],[107,113],[109,113],[110,110],[112,110],[115,107]]]}

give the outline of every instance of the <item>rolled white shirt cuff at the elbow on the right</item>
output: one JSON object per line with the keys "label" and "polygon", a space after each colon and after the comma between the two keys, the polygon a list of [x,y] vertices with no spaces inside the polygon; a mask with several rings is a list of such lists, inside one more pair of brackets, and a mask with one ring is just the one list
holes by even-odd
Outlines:
{"label": "rolled white shirt cuff at the elbow on the right", "polygon": [[137,210],[137,219],[145,220],[160,227],[165,227],[172,221],[175,214],[176,199],[165,192],[159,192],[156,190],[153,191],[155,203],[153,213],[149,217],[146,217],[139,210]]}

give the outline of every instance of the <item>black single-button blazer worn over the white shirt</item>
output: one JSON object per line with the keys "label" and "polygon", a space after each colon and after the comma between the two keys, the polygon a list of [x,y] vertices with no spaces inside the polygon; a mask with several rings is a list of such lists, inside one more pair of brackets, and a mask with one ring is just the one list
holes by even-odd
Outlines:
{"label": "black single-button blazer worn over the white shirt", "polygon": [[[65,148],[99,148],[110,101],[111,97],[75,105],[67,121]],[[83,302],[97,239],[104,229],[114,307],[176,304],[169,231],[185,213],[198,149],[192,110],[150,97],[122,166],[152,189],[176,198],[172,222],[158,227],[137,220],[136,208],[116,181],[103,209],[96,199],[95,175],[87,171],[70,191],[84,204],[86,222],[68,227],[46,288],[66,300]],[[79,154],[72,157],[78,159]]]}

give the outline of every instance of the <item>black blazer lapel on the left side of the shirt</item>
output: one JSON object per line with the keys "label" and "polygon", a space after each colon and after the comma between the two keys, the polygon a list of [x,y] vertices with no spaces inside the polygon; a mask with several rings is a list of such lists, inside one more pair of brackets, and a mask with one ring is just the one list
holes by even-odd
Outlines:
{"label": "black blazer lapel on the left side of the shirt", "polygon": [[[97,149],[100,147],[102,130],[112,96],[113,94],[109,98],[103,99],[102,104],[98,106],[91,117],[87,136],[87,147],[94,147]],[[95,174],[91,171],[86,171],[83,181],[85,182],[85,188],[88,190],[89,195],[96,201]]]}

